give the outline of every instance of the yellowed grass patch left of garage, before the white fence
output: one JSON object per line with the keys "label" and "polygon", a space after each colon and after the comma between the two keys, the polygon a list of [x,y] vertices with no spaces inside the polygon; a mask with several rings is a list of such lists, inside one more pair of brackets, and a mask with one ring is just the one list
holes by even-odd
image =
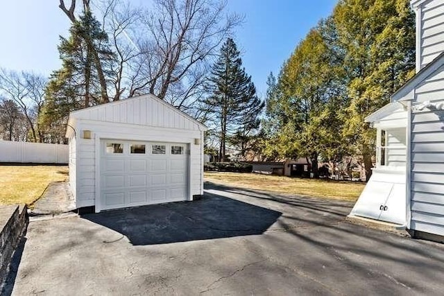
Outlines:
{"label": "yellowed grass patch left of garage, before the white fence", "polygon": [[67,178],[68,166],[0,166],[0,204],[32,204],[49,183]]}

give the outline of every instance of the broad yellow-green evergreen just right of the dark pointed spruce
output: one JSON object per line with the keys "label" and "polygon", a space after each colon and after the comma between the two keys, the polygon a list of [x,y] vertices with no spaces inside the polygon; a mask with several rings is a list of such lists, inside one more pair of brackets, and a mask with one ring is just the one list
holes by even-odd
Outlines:
{"label": "broad yellow-green evergreen just right of the dark pointed spruce", "polygon": [[267,113],[275,126],[266,154],[311,159],[315,175],[318,158],[336,157],[340,142],[341,59],[332,58],[325,42],[330,26],[327,20],[312,29],[282,67],[278,83],[268,87]]}

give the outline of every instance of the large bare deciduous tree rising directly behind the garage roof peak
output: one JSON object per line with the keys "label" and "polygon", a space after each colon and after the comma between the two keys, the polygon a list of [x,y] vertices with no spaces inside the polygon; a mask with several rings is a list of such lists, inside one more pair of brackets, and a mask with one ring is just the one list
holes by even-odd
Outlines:
{"label": "large bare deciduous tree rising directly behind the garage roof peak", "polygon": [[142,52],[148,57],[151,94],[176,107],[189,107],[185,101],[198,94],[208,73],[207,62],[241,21],[238,15],[225,15],[226,4],[219,0],[155,1],[151,13],[142,19],[148,36]]}

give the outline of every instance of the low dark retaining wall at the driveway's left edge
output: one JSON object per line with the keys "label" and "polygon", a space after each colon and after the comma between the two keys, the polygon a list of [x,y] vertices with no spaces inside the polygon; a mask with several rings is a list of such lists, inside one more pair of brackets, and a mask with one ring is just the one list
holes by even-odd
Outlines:
{"label": "low dark retaining wall at the driveway's left edge", "polygon": [[6,279],[8,265],[28,226],[25,205],[0,207],[0,284]]}

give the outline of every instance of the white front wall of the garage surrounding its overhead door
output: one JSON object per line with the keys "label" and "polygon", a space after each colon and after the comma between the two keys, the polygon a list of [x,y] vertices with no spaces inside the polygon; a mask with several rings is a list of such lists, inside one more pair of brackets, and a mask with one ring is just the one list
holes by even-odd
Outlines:
{"label": "white front wall of the garage surrounding its overhead door", "polygon": [[[176,128],[155,128],[144,125],[108,123],[85,119],[77,120],[76,127],[80,132],[82,130],[92,131],[92,139],[78,139],[77,207],[89,207],[95,205],[95,184],[96,178],[99,177],[99,172],[96,172],[96,167],[98,167],[96,161],[100,159],[100,148],[97,147],[100,139],[189,143],[191,196],[203,194],[203,157],[201,153],[203,150],[202,131],[181,130]],[[196,144],[194,139],[201,139],[200,143]],[[189,198],[191,198],[191,196]]]}

